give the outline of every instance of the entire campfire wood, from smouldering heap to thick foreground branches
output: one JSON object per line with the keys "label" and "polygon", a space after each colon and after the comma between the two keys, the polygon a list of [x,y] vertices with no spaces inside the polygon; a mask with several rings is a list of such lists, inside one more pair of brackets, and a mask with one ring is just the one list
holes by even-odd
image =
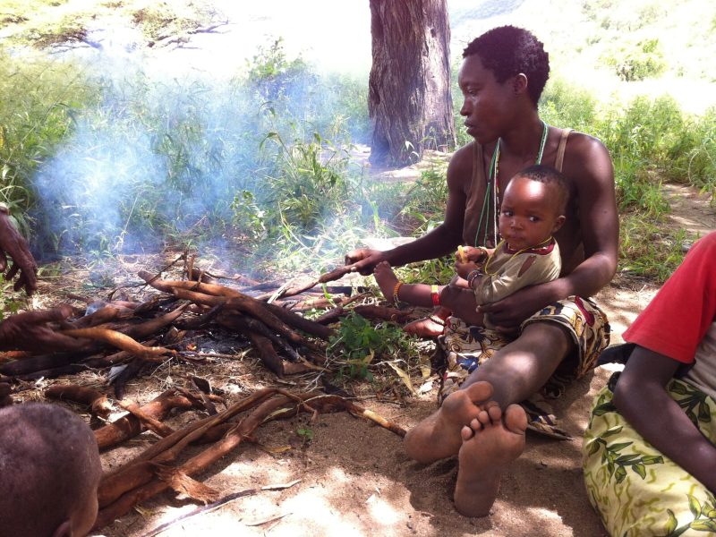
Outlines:
{"label": "entire campfire wood, from smouldering heap to thick foreground branches", "polygon": [[[164,277],[180,261],[183,277]],[[109,379],[107,389],[64,379],[44,388],[43,396],[82,405],[95,422],[104,422],[95,430],[100,451],[145,430],[158,436],[156,443],[103,476],[96,528],[167,489],[204,504],[223,501],[217,490],[192,476],[243,441],[251,441],[253,432],[268,420],[302,412],[313,416],[348,412],[405,434],[395,423],[349,400],[323,373],[330,367],[326,345],[334,328],[329,325],[341,316],[356,311],[371,319],[405,320],[412,311],[368,303],[371,292],[365,287],[327,285],[344,277],[349,272],[345,267],[315,279],[260,283],[247,277],[221,277],[196,265],[194,257],[184,254],[159,273],[138,271],[143,284],[134,287],[143,290],[142,300],[132,299],[124,293],[126,288],[115,288],[101,300],[69,294],[68,299],[84,306],[74,307],[72,317],[54,328],[81,340],[78,352],[0,354],[0,405],[12,403],[13,394],[38,386],[33,385],[38,379],[47,386],[46,379],[103,370]],[[232,285],[219,283],[224,279]],[[303,316],[316,308],[326,312],[315,320]],[[250,347],[277,379],[311,375],[321,379],[324,388],[261,388],[230,401],[209,378],[212,359],[235,359],[235,354],[202,349],[206,335],[218,332],[234,338],[240,347]],[[202,374],[187,376],[183,386],[175,384],[144,405],[126,398],[128,382],[169,361],[189,364]],[[115,411],[110,397],[125,411],[113,421],[107,421]],[[175,430],[164,422],[170,413],[188,410],[198,417],[182,428]],[[186,447],[196,444],[208,447],[190,458],[183,456]]]}

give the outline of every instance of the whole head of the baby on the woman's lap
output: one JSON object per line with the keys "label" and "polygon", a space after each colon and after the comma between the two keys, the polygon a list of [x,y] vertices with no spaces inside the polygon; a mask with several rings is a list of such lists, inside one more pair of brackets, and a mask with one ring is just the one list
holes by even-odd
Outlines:
{"label": "whole head of the baby on the woman's lap", "polygon": [[513,250],[537,246],[565,222],[567,178],[551,166],[535,165],[507,184],[499,210],[499,234]]}

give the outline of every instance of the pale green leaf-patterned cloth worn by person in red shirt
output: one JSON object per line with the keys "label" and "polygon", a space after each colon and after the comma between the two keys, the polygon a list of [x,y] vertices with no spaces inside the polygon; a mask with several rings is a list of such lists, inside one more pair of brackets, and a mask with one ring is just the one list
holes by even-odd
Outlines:
{"label": "pale green leaf-patterned cloth worn by person in red shirt", "polygon": [[[713,494],[637,433],[612,403],[618,374],[594,398],[584,432],[584,484],[612,536],[716,533]],[[716,439],[716,402],[671,379],[669,395],[707,439]]]}

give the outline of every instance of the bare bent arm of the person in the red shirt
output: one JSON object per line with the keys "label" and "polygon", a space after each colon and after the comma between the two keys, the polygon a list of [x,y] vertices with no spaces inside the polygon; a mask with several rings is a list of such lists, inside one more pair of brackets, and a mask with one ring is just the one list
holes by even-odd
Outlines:
{"label": "bare bent arm of the person in the red shirt", "polygon": [[678,365],[637,345],[617,382],[614,405],[653,447],[716,493],[716,447],[666,391]]}

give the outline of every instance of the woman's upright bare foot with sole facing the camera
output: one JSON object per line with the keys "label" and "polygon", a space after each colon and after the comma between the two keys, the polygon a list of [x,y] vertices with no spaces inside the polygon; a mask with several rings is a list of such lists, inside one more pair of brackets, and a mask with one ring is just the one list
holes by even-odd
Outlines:
{"label": "woman's upright bare foot with sole facing the camera", "polygon": [[[447,399],[446,399],[447,402]],[[494,401],[463,427],[458,456],[455,507],[461,515],[487,516],[507,465],[524,451],[527,414],[520,405],[509,405],[504,415]]]}

